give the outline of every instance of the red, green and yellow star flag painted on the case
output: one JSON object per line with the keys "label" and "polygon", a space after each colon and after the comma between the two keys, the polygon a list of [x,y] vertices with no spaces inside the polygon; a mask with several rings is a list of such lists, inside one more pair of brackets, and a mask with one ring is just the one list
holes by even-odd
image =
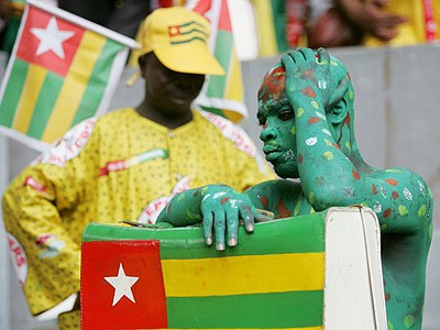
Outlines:
{"label": "red, green and yellow star flag painted on the case", "polygon": [[84,329],[322,329],[319,217],[264,223],[258,237],[242,230],[224,252],[206,246],[200,228],[91,224],[82,237]]}

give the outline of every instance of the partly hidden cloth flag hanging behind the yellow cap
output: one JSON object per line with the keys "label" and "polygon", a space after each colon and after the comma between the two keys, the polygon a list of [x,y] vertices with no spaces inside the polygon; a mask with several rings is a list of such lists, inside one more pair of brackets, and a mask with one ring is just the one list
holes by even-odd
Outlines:
{"label": "partly hidden cloth flag hanging behind the yellow cap", "polygon": [[244,105],[243,80],[235,53],[228,1],[200,0],[193,10],[209,19],[210,48],[226,72],[224,76],[207,77],[195,102],[206,111],[239,122],[248,118],[248,109]]}

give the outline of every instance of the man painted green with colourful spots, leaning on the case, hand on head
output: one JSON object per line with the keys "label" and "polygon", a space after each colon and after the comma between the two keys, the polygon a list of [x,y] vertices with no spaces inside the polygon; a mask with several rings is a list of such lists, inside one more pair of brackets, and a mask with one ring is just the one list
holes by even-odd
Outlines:
{"label": "man painted green with colourful spots, leaning on the case, hand on head", "polygon": [[240,219],[248,232],[254,221],[267,220],[255,208],[279,219],[336,206],[370,207],[381,223],[388,329],[421,329],[432,195],[408,169],[378,169],[363,161],[353,101],[346,69],[324,50],[284,55],[258,91],[260,138],[278,176],[300,182],[266,182],[244,194],[228,186],[188,190],[172,199],[160,221],[202,222],[206,243],[215,237],[217,250],[224,250],[238,244]]}

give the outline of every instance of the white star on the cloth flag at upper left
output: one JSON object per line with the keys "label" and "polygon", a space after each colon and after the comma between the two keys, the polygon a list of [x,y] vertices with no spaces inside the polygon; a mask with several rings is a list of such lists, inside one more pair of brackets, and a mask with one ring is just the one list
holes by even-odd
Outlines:
{"label": "white star on the cloth flag at upper left", "polygon": [[54,16],[51,18],[46,29],[32,28],[31,33],[40,40],[35,55],[38,56],[48,51],[54,52],[59,58],[64,58],[63,43],[74,36],[73,31],[61,31]]}

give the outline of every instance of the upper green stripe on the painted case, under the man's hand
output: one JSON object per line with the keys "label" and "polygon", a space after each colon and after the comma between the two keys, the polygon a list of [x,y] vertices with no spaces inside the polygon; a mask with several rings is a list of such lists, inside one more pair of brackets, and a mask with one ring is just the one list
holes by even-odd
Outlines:
{"label": "upper green stripe on the painted case, under the man's hand", "polygon": [[[201,228],[146,229],[91,223],[82,242],[109,240],[161,240],[161,257],[204,258],[275,253],[324,252],[326,212],[257,223],[249,234],[240,227],[239,245],[226,251],[207,246]],[[182,249],[190,246],[191,249]]]}

